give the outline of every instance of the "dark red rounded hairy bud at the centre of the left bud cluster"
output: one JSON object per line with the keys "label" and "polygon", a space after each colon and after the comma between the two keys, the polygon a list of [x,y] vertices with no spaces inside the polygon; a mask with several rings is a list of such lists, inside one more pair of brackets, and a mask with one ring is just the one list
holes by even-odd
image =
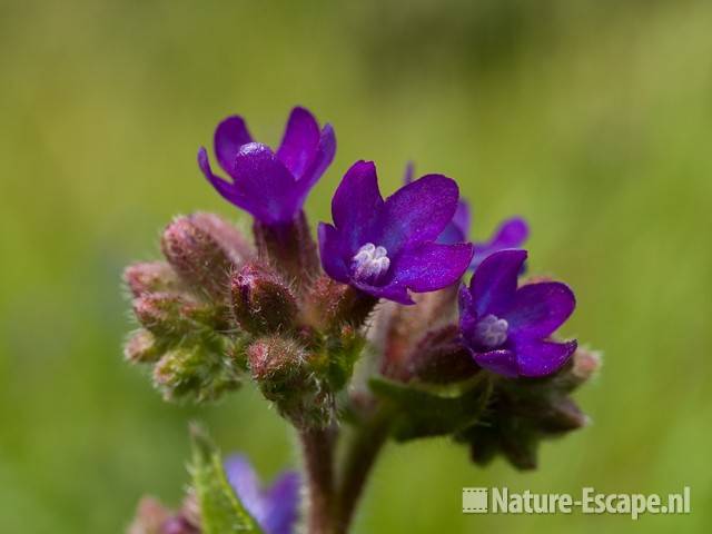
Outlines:
{"label": "dark red rounded hairy bud at the centre of the left bud cluster", "polygon": [[287,284],[264,265],[247,264],[230,284],[233,315],[250,334],[290,330],[298,314],[297,300]]}

